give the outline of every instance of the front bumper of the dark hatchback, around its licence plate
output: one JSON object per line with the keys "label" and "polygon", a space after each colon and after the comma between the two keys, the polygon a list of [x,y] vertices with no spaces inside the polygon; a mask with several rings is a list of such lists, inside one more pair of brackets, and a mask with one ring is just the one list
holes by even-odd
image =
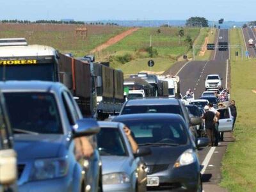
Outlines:
{"label": "front bumper of the dark hatchback, around its licence plate", "polygon": [[171,171],[154,173],[148,177],[159,177],[159,186],[147,187],[148,191],[197,191],[200,166],[196,163],[173,168]]}

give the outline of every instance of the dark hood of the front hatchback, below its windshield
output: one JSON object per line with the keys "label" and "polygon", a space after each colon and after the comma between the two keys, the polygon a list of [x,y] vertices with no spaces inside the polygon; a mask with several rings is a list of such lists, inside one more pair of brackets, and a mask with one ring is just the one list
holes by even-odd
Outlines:
{"label": "dark hood of the front hatchback, below its windshield", "polygon": [[152,154],[150,156],[143,157],[143,160],[147,165],[175,164],[180,155],[188,148],[191,147],[189,145],[180,145],[178,147],[150,147]]}

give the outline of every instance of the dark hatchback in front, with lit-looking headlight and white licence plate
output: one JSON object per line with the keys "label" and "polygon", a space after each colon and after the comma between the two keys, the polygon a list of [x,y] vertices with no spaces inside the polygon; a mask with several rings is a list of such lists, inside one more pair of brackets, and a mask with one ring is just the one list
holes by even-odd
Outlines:
{"label": "dark hatchback in front, with lit-looking headlight and white licence plate", "polygon": [[148,191],[202,191],[196,147],[206,146],[209,140],[198,138],[196,146],[182,116],[143,113],[116,116],[113,121],[127,125],[140,147],[150,147],[152,154],[143,157]]}

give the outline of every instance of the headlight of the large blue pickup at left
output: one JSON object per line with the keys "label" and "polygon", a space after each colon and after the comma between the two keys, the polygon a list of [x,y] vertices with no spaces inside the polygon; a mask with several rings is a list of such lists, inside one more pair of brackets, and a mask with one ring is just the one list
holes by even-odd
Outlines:
{"label": "headlight of the large blue pickup at left", "polygon": [[68,172],[67,157],[37,159],[31,170],[29,180],[44,180],[63,177]]}

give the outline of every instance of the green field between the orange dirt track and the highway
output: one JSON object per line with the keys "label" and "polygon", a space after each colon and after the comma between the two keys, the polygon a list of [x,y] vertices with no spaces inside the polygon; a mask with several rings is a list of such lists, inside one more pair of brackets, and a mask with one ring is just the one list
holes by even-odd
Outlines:
{"label": "green field between the orange dirt track and the highway", "polygon": [[[188,52],[189,45],[185,42],[186,36],[191,36],[195,41],[199,35],[199,28],[184,28],[184,36],[179,38],[181,28],[140,28],[138,31],[125,37],[115,45],[108,47],[99,54],[102,60],[108,60],[109,55],[111,66],[120,68],[124,74],[134,74],[141,70],[150,70],[147,61],[150,60],[150,54],[145,51],[150,46],[150,36],[152,47],[157,51],[152,59],[159,63],[152,68],[152,71],[164,71],[170,67],[184,53]],[[100,55],[101,54],[101,55]],[[116,57],[122,57],[128,54],[131,58],[128,61],[120,62]]]}

